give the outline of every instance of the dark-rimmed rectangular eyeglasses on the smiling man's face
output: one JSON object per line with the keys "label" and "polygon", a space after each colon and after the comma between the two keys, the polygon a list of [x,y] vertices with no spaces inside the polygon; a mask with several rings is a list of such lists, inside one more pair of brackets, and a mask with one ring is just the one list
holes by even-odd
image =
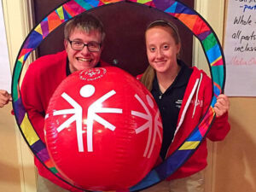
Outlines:
{"label": "dark-rimmed rectangular eyeglasses on the smiling man's face", "polygon": [[96,42],[89,42],[88,44],[84,44],[84,42],[81,41],[71,41],[68,39],[68,42],[71,44],[71,48],[74,50],[82,50],[84,49],[85,46],[87,46],[87,49],[90,52],[98,52],[101,49],[101,45],[99,43]]}

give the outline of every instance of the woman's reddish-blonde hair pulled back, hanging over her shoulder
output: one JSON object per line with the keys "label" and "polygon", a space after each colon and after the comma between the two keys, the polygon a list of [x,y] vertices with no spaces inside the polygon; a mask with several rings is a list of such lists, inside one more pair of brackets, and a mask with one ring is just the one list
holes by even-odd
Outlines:
{"label": "woman's reddish-blonde hair pulled back, hanging over her shoulder", "polygon": [[[180,37],[179,34],[177,32],[177,26],[175,26],[174,24],[172,24],[171,22],[168,22],[166,20],[155,20],[154,22],[150,23],[146,29],[146,32],[148,31],[148,29],[151,29],[155,26],[164,26],[164,27],[168,27],[171,29],[171,34],[172,34],[172,38],[174,38],[175,43],[176,44],[181,44],[180,41]],[[145,34],[146,34],[145,32]],[[179,57],[179,55],[177,55],[177,58]],[[150,65],[148,65],[148,68],[146,69],[146,71],[143,73],[143,76],[141,78],[141,82],[147,87],[147,89],[149,91],[152,90],[152,84],[153,84],[153,80],[154,80],[154,75],[155,75],[155,70],[153,67],[151,67]]]}

